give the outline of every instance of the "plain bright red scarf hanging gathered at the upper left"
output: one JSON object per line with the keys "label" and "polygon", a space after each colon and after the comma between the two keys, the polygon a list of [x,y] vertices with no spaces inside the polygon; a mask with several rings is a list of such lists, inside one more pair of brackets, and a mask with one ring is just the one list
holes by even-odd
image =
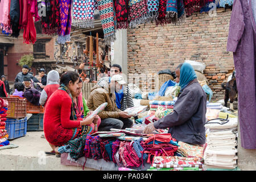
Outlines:
{"label": "plain bright red scarf hanging gathered at the upper left", "polygon": [[23,42],[26,44],[34,44],[36,42],[36,29],[35,29],[35,23],[33,16],[30,12],[30,6],[28,5],[27,9],[27,24],[26,27],[24,27],[24,32],[23,32]]}

